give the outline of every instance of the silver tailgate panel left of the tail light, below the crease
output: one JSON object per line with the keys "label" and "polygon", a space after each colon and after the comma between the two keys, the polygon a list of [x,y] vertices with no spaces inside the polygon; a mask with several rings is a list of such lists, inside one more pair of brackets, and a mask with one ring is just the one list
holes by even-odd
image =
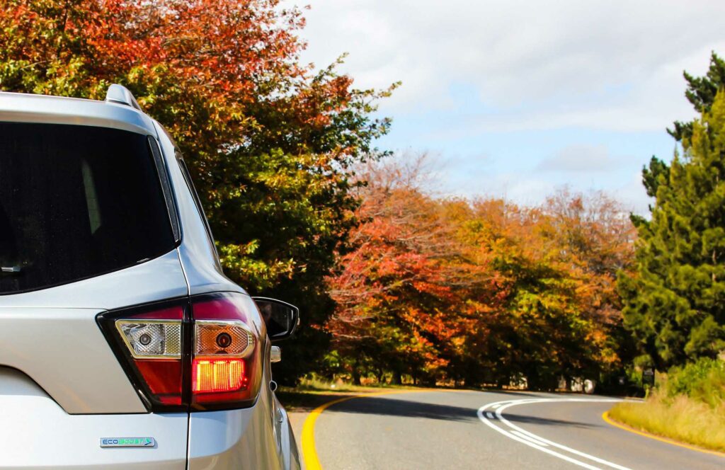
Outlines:
{"label": "silver tailgate panel left of the tail light, below the crease", "polygon": [[30,376],[66,413],[146,413],[96,325],[99,311],[0,307],[0,366]]}

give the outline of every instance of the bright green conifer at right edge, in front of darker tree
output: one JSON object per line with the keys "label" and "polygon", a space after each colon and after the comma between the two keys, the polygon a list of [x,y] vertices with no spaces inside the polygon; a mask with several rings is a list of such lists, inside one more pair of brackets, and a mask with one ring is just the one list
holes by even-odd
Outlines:
{"label": "bright green conifer at right edge, in front of darker tree", "polygon": [[621,275],[626,325],[660,370],[725,349],[725,93],[683,140]]}

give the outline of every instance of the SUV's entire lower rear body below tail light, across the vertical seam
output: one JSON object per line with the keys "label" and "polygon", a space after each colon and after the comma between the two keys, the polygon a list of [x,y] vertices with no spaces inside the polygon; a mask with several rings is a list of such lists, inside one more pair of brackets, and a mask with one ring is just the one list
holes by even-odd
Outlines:
{"label": "SUV's entire lower rear body below tail light, across the vertical seam", "polygon": [[[155,445],[101,448],[120,437]],[[0,367],[0,470],[187,468],[299,469],[289,420],[269,389],[241,410],[71,415],[28,376]]]}

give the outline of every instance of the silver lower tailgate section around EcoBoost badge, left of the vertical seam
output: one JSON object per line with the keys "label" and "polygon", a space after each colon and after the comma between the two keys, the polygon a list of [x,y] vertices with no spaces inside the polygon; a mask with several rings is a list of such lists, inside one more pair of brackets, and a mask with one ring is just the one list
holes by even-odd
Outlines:
{"label": "silver lower tailgate section around EcoBoost badge, left of the vertical seam", "polygon": [[[187,413],[70,415],[28,376],[0,367],[0,468],[186,468]],[[101,448],[101,438],[153,437],[154,448]]]}

